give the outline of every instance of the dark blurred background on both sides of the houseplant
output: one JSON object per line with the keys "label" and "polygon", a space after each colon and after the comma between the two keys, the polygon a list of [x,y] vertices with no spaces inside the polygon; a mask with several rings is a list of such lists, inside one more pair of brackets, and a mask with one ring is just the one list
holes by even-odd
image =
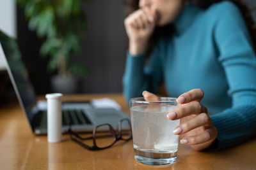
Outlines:
{"label": "dark blurred background on both sides of the houseplant", "polygon": [[[122,0],[93,0],[83,4],[88,28],[81,39],[81,51],[72,60],[88,67],[77,93],[122,92],[127,38],[124,29],[125,6]],[[17,39],[36,94],[52,92],[46,71],[47,57],[38,52],[43,39],[28,30],[24,9],[17,6]]]}

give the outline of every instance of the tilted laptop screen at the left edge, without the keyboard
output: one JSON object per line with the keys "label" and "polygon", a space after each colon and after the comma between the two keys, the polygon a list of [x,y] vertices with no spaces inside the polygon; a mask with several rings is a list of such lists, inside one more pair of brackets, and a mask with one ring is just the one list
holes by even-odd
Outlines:
{"label": "tilted laptop screen at the left edge, without the keyboard", "polygon": [[3,41],[3,35],[0,35],[0,57],[5,61],[13,89],[31,122],[33,113],[36,113],[36,96],[18,49],[15,40],[6,38]]}

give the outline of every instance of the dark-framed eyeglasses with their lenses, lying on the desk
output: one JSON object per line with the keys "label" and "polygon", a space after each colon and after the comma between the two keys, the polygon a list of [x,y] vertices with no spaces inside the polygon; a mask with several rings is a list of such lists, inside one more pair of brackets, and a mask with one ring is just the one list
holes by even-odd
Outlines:
{"label": "dark-framed eyeglasses with their lenses, lying on the desk", "polygon": [[[71,127],[68,133],[73,141],[88,150],[102,150],[114,145],[116,141],[132,139],[131,122],[128,118],[118,122],[117,132],[110,124],[101,124],[93,129],[93,136],[81,137],[77,132],[72,131]],[[89,141],[92,145],[87,145],[83,141]]]}

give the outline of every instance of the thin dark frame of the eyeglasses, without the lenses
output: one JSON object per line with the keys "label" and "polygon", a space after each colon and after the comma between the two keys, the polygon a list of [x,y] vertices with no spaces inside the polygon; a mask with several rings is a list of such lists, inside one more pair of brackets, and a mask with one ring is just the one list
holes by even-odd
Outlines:
{"label": "thin dark frame of the eyeglasses, without the lenses", "polygon": [[[130,136],[128,139],[124,139],[122,138],[122,134],[121,134],[121,131],[122,131],[122,122],[124,120],[127,120],[128,124],[129,124],[129,127],[131,129],[131,133],[130,133]],[[109,132],[111,132],[111,134],[114,134],[113,137],[115,137],[113,143],[111,143],[111,145],[109,146],[105,146],[105,147],[102,147],[100,148],[99,146],[97,146],[96,144],[96,131],[97,131],[97,128],[100,127],[100,126],[104,126],[104,125],[108,125],[109,126]],[[116,134],[116,131],[115,129],[113,128],[113,126],[111,124],[100,124],[100,125],[97,125],[94,129],[93,129],[93,136],[91,137],[88,137],[88,138],[81,138],[81,136],[79,136],[76,132],[72,131],[71,129],[71,126],[69,127],[68,129],[68,133],[70,134],[70,138],[73,140],[73,141],[76,141],[76,143],[78,143],[79,145],[83,146],[84,148],[86,148],[87,150],[103,150],[103,149],[106,149],[106,148],[109,148],[111,146],[113,146],[117,141],[119,140],[123,140],[123,141],[129,141],[132,139],[132,126],[131,126],[131,121],[128,119],[128,118],[122,118],[121,120],[119,120],[118,122],[118,125],[117,125],[117,134]],[[73,138],[72,135],[76,136],[76,138],[78,139],[81,139],[81,140],[86,140],[86,139],[93,139],[93,146],[89,146],[89,145],[86,145],[85,143],[83,143],[82,141],[79,141],[78,139],[76,138]],[[101,138],[105,138],[105,137],[108,137],[108,136],[100,136]]]}

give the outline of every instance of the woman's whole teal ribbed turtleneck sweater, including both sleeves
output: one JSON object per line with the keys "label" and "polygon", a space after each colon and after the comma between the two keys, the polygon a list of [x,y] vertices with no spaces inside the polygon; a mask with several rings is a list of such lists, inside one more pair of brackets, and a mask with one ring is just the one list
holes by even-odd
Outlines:
{"label": "woman's whole teal ribbed turtleneck sweater, including both sleeves", "polygon": [[224,1],[202,10],[187,5],[173,22],[172,38],[160,39],[150,60],[127,54],[123,78],[127,100],[143,90],[168,96],[204,90],[201,103],[218,129],[217,150],[256,136],[256,57],[236,5]]}

